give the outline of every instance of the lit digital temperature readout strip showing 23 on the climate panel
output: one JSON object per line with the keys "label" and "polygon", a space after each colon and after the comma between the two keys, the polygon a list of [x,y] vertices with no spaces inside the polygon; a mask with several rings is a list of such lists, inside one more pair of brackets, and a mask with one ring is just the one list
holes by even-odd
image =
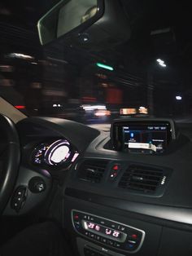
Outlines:
{"label": "lit digital temperature readout strip showing 23 on the climate panel", "polygon": [[115,229],[105,227],[100,224],[98,225],[97,223],[92,223],[89,221],[83,221],[83,227],[86,230],[92,231],[94,233],[98,233],[101,236],[106,236],[106,237],[111,238],[112,240],[116,240],[116,241],[123,241],[124,236],[126,236],[126,234],[119,232]]}

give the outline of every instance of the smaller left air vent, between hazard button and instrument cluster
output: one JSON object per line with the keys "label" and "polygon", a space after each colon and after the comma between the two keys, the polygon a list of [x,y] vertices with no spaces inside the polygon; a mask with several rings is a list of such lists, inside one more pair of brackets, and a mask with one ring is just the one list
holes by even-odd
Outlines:
{"label": "smaller left air vent, between hazard button and instrument cluster", "polygon": [[78,169],[77,177],[91,183],[100,183],[107,163],[105,160],[85,160]]}

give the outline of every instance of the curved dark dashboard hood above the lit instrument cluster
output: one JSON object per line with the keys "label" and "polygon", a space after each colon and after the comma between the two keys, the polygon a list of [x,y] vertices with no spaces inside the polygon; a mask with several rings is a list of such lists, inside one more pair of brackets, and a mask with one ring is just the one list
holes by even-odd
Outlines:
{"label": "curved dark dashboard hood above the lit instrument cluster", "polygon": [[[89,143],[99,135],[98,130],[80,123],[51,117],[30,117],[17,125],[21,142],[28,143],[35,138],[64,137],[83,152]],[[23,136],[22,136],[23,134]]]}

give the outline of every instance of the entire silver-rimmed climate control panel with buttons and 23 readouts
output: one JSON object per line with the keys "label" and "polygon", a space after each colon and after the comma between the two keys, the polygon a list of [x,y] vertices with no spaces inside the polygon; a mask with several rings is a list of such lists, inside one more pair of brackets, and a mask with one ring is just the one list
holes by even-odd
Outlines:
{"label": "entire silver-rimmed climate control panel with buttons and 23 readouts", "polygon": [[79,210],[72,210],[72,225],[82,236],[126,252],[137,252],[145,238],[141,229]]}

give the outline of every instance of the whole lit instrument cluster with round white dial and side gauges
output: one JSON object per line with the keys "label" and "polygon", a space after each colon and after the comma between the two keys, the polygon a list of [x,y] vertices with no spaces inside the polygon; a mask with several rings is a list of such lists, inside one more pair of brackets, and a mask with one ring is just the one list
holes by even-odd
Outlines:
{"label": "whole lit instrument cluster with round white dial and side gauges", "polygon": [[33,150],[32,162],[37,166],[68,167],[78,155],[67,139],[57,139],[38,144]]}

